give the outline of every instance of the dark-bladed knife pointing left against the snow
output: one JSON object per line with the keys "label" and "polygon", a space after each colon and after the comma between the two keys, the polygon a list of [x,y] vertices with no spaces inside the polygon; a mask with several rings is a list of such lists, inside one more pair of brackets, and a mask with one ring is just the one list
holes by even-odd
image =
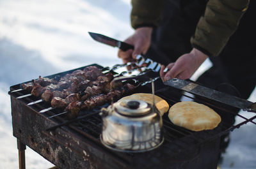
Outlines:
{"label": "dark-bladed knife pointing left against the snow", "polygon": [[104,43],[106,45],[110,45],[111,47],[118,47],[124,52],[129,49],[134,49],[134,46],[128,43],[125,43],[124,41],[115,40],[113,38],[109,38],[108,36],[105,36],[99,33],[91,33],[91,32],[88,32],[88,33],[93,38],[93,40],[99,41],[100,43]]}

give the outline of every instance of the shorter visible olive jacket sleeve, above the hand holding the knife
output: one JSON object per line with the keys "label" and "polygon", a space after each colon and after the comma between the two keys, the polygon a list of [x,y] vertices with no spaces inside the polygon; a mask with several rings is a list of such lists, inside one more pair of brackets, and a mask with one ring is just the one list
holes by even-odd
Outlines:
{"label": "shorter visible olive jacket sleeve, above the hand holding the knife", "polygon": [[157,27],[163,11],[163,0],[132,0],[131,26]]}

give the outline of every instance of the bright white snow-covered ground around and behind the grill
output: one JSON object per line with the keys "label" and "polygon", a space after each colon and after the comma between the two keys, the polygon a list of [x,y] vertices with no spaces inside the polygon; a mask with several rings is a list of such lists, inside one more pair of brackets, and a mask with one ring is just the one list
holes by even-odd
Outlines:
{"label": "bright white snow-covered ground around and behind the grill", "polygon": [[[87,64],[120,63],[117,49],[93,41],[88,31],[124,40],[132,33],[130,10],[129,0],[0,0],[0,169],[19,165],[9,87]],[[255,96],[250,100],[256,101]],[[232,132],[222,168],[256,168],[255,131],[256,125],[248,124]],[[27,147],[26,166],[52,164]]]}

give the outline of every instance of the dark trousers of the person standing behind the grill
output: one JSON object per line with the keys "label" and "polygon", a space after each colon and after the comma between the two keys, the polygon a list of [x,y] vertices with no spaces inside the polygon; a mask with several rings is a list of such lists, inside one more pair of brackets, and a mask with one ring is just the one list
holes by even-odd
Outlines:
{"label": "dark trousers of the person standing behind the grill", "polygon": [[[146,55],[167,65],[191,51],[190,38],[195,33],[200,16],[204,15],[207,0],[166,0],[165,3],[161,25],[153,31]],[[252,24],[256,16],[255,3],[250,1],[236,33],[230,37],[221,54],[209,57],[213,66],[198,78],[198,83],[248,99],[256,85],[256,27]],[[226,105],[221,107],[234,112],[227,114],[216,110],[222,121],[233,124],[239,109]],[[228,145],[227,136],[221,137],[221,152]]]}

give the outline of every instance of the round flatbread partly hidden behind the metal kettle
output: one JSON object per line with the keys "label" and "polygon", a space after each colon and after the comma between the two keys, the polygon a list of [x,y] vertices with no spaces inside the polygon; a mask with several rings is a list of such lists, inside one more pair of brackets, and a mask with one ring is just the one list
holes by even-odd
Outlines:
{"label": "round flatbread partly hidden behind the metal kettle", "polygon": [[[153,98],[152,97],[153,96],[150,93],[135,93],[135,94],[132,94],[130,96],[125,96],[124,98],[121,98],[118,101],[124,101],[126,99],[138,99],[138,100],[142,100],[142,101],[145,101],[145,102],[153,105]],[[161,115],[168,112],[169,105],[164,99],[155,95],[155,103],[156,103],[156,108],[157,108],[157,110],[159,110]]]}

